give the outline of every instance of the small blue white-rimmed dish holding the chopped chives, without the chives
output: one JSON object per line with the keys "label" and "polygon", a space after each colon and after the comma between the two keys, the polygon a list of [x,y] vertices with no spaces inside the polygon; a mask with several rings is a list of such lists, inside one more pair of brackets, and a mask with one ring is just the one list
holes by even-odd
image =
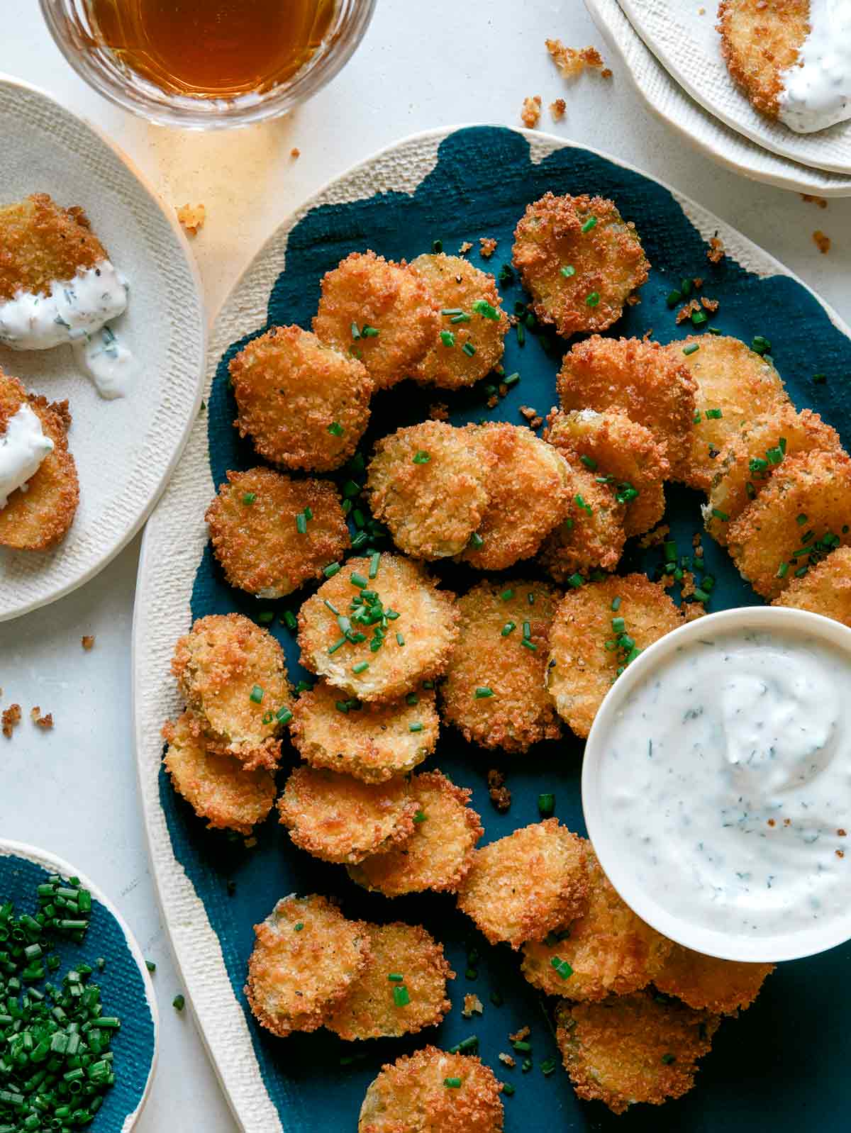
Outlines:
{"label": "small blue white-rimmed dish holding the chopped chives, without the chives", "polygon": [[92,977],[104,1005],[121,1020],[112,1049],[116,1084],[107,1092],[94,1128],[97,1133],[129,1133],[142,1113],[156,1064],[158,1014],[151,977],[138,944],[111,902],[78,869],[44,850],[22,842],[0,841],[0,902],[12,901],[18,913],[33,912],[35,887],[50,874],[78,877],[92,894],[92,918],[83,944],[59,943],[56,952],[66,972],[80,960],[94,965],[107,961]]}

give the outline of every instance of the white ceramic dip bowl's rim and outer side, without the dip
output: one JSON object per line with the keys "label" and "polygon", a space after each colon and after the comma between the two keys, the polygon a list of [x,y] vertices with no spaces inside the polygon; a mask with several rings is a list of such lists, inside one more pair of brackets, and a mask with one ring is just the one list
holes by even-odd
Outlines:
{"label": "white ceramic dip bowl's rim and outer side, without the dip", "polygon": [[[776,962],[811,956],[851,939],[851,908],[818,925],[772,936],[744,936],[709,929],[676,915],[670,902],[659,900],[658,891],[644,886],[636,877],[627,855],[614,836],[612,816],[601,793],[602,770],[606,760],[613,722],[635,689],[667,663],[682,646],[708,634],[737,630],[774,630],[806,633],[840,649],[851,666],[851,629],[820,614],[784,606],[744,606],[708,614],[688,622],[661,638],[638,656],[612,685],[594,721],[582,764],[582,810],[594,851],[621,897],[642,920],[658,932],[707,956],[722,960]],[[851,735],[848,736],[851,760]],[[851,849],[851,847],[850,847]],[[851,868],[851,867],[850,867]],[[664,885],[664,879],[661,879]]]}

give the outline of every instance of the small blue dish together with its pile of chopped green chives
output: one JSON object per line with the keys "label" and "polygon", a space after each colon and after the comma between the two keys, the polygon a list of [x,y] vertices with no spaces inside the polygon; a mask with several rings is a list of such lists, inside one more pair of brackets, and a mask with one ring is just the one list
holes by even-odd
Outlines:
{"label": "small blue dish together with its pile of chopped green chives", "polygon": [[119,912],[60,859],[0,841],[0,1133],[127,1133],[158,1013]]}

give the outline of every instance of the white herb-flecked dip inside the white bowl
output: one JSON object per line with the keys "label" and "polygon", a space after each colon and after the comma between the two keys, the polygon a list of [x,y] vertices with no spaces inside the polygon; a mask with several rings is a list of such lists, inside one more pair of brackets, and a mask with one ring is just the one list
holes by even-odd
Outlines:
{"label": "white herb-flecked dip inside the white bowl", "polygon": [[851,905],[839,649],[763,631],[681,647],[624,701],[601,776],[622,862],[672,917],[771,936]]}

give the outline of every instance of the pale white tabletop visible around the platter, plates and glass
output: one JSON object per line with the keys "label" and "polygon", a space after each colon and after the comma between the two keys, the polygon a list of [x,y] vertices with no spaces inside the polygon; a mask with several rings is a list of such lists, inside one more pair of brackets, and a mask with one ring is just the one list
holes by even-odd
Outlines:
{"label": "pale white tabletop visible around the platter, plates and glass", "polygon": [[[710,0],[712,2],[712,0]],[[3,0],[0,70],[40,84],[125,147],[167,201],[204,202],[194,242],[211,314],[276,222],[331,177],[397,138],[476,120],[517,123],[524,95],[563,95],[556,134],[587,142],[663,178],[761,244],[851,321],[851,201],[825,211],[698,156],[636,101],[626,77],[588,75],[567,86],[543,41],[601,44],[579,0],[378,0],[347,69],[309,105],[265,127],[193,135],[146,126],[112,109],[67,68],[35,0]],[[301,156],[293,161],[292,146]],[[811,232],[833,238],[818,254]],[[25,719],[0,736],[0,833],[76,862],[111,895],[158,962],[160,1068],[141,1133],[232,1133],[235,1125],[195,1034],[160,925],[137,803],[130,726],[130,621],[138,540],[61,603],[0,625],[2,704]],[[95,633],[91,654],[79,638]],[[53,712],[36,733],[28,709]]]}

